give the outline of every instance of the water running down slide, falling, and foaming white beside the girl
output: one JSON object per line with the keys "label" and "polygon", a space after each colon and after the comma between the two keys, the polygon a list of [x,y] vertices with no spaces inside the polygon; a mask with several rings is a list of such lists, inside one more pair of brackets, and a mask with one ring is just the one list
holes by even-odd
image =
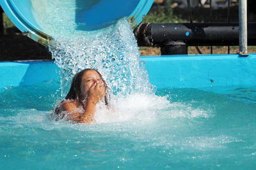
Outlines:
{"label": "water running down slide, falling, and foaming white beside the girl", "polygon": [[[83,25],[76,23],[74,1],[32,2],[37,22],[54,38],[49,50],[60,67],[61,96],[67,94],[74,74],[85,68],[97,69],[117,96],[118,100],[112,97],[109,101],[114,110],[108,110],[102,103],[97,104],[97,123],[150,121],[157,117],[159,110],[170,112],[170,108],[173,110],[172,117],[204,114],[207,117],[204,110],[190,113],[186,106],[171,104],[166,96],[154,94],[154,86],[148,82],[145,64],[140,60],[136,39],[127,18],[120,18],[116,24],[98,31],[83,31]],[[48,5],[52,3],[54,5]]]}

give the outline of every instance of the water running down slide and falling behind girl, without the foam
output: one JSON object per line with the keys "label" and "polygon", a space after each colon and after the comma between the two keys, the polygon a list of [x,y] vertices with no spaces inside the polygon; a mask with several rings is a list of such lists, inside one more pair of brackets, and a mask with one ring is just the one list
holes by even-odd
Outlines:
{"label": "water running down slide and falling behind girl, without the foam", "polygon": [[36,22],[54,38],[49,50],[61,69],[62,96],[67,94],[74,74],[85,68],[97,69],[118,96],[152,93],[127,18],[88,32],[81,30],[86,23],[76,23],[76,1],[36,0],[32,6]]}

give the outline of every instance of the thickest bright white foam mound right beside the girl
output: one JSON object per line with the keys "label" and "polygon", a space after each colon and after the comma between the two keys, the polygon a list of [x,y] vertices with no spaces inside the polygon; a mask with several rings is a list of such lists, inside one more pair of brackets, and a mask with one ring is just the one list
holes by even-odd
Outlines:
{"label": "thickest bright white foam mound right beside the girl", "polygon": [[95,113],[95,120],[97,123],[155,120],[158,111],[168,105],[170,103],[165,97],[154,94],[130,94],[118,97],[110,110],[99,107]]}

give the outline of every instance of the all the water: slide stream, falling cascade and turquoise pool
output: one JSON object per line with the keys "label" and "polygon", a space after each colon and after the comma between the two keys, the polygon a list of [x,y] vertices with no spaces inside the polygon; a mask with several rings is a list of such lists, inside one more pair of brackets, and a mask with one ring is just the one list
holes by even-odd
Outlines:
{"label": "all the water: slide stream, falling cascade and turquoise pool", "polygon": [[[54,35],[49,50],[61,82],[0,93],[0,169],[256,166],[255,87],[158,89],[155,95],[129,22],[81,31],[86,23],[76,23],[75,2],[31,1],[36,22]],[[74,74],[89,67],[116,95],[111,110],[99,103],[97,124],[55,122],[53,104],[67,94]]]}

